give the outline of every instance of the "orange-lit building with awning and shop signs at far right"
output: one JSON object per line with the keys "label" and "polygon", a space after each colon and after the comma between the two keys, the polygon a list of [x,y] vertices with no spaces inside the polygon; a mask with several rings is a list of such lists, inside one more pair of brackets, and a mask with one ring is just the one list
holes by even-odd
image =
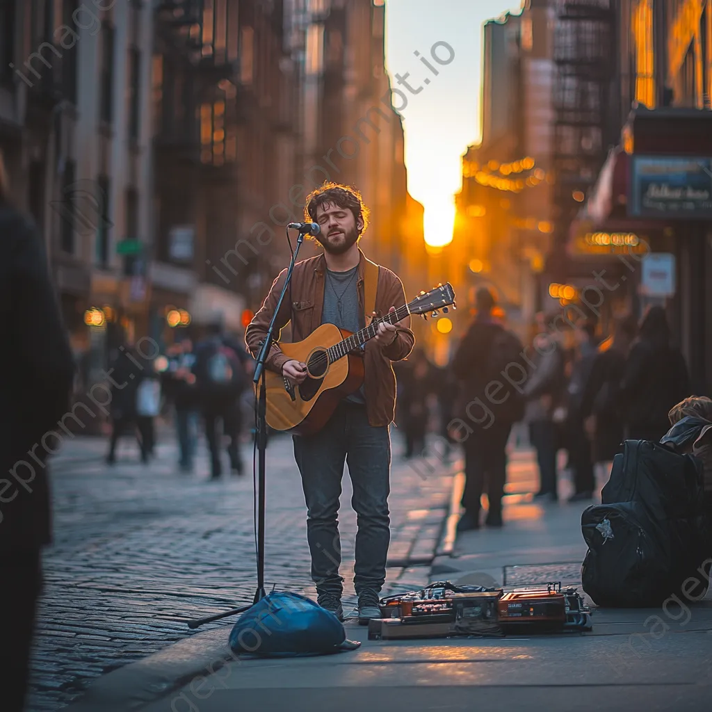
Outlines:
{"label": "orange-lit building with awning and shop signs at far right", "polygon": [[607,249],[619,253],[629,308],[642,315],[649,304],[666,307],[693,388],[705,394],[712,384],[712,4],[620,0],[616,12],[619,133],[570,239],[614,243]]}

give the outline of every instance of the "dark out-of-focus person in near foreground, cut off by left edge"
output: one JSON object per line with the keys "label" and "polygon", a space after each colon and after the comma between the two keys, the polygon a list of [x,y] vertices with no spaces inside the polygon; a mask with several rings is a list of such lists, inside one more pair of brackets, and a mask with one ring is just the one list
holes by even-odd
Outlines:
{"label": "dark out-of-focus person in near foreground, cut off by left edge", "polygon": [[74,364],[43,241],[11,204],[1,155],[0,242],[0,700],[4,712],[21,712],[41,550],[51,542],[48,454],[69,410]]}

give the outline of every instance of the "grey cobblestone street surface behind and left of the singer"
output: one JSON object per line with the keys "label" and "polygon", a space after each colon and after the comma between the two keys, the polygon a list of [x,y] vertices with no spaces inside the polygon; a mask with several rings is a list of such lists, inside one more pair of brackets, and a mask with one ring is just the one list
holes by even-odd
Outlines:
{"label": "grey cobblestone street surface behind and left of the singer", "polygon": [[[452,483],[451,470],[442,466],[402,461],[399,434],[393,430],[392,436],[392,545],[384,595],[426,582],[425,564],[438,545]],[[170,434],[159,438],[147,466],[130,441],[120,443],[117,464],[106,466],[106,442],[92,438],[68,441],[53,460],[55,540],[45,556],[33,712],[61,708],[95,676],[188,637],[187,620],[251,601],[252,477],[207,481],[205,456],[196,473],[180,473],[171,440]],[[250,459],[251,443],[244,448]],[[303,493],[287,436],[268,446],[266,496],[266,585],[314,595]],[[350,498],[345,476],[340,530],[347,610],[355,604]]]}

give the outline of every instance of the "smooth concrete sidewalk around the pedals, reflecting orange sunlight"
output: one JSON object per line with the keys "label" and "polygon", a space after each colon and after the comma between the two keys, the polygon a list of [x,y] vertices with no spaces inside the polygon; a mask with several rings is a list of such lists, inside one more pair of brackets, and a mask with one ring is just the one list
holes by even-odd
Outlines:
{"label": "smooth concrete sidewalk around the pedals, reflecting orange sunlight", "polygon": [[[461,535],[451,557],[436,559],[431,580],[578,582],[585,505],[534,503],[528,451],[513,452],[509,470],[505,527]],[[562,498],[568,490],[562,481]],[[709,597],[682,608],[594,609],[586,633],[392,642],[346,628],[360,649],[301,659],[236,660],[228,630],[199,634],[105,676],[71,709],[693,710],[712,700]]]}

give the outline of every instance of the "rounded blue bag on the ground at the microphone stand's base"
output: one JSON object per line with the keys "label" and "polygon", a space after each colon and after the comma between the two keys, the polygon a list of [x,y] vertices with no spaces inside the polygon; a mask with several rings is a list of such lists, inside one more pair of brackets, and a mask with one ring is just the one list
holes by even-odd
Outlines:
{"label": "rounded blue bag on the ground at the microphone stand's base", "polygon": [[340,620],[296,593],[271,592],[241,615],[230,633],[235,654],[255,656],[328,655],[354,650]]}

